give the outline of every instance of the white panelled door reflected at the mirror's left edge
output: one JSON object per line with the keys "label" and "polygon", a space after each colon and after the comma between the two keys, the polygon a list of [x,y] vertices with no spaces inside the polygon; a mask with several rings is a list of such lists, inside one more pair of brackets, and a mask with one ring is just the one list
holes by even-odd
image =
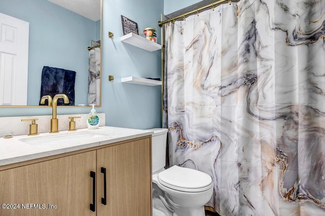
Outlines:
{"label": "white panelled door reflected at the mirror's left edge", "polygon": [[29,23],[0,13],[0,105],[27,105]]}

